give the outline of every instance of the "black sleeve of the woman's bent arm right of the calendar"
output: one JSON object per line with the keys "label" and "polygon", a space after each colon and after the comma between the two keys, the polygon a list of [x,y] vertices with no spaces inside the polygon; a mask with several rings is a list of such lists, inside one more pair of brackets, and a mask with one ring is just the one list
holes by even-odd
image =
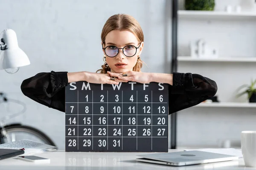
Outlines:
{"label": "black sleeve of the woman's bent arm right of the calendar", "polygon": [[215,81],[199,74],[173,73],[169,85],[169,114],[198,105],[217,93]]}

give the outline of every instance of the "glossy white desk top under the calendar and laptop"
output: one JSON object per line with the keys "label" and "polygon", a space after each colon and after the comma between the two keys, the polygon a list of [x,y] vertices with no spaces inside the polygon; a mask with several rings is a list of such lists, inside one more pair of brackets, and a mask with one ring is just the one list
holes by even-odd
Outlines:
{"label": "glossy white desk top under the calendar and laptop", "polygon": [[[182,150],[169,150],[169,152]],[[0,170],[202,170],[255,169],[244,167],[243,159],[218,163],[172,167],[168,165],[137,162],[136,155],[144,153],[76,153],[76,152],[44,152],[35,156],[49,158],[50,163],[37,164],[23,161],[17,157],[0,160]],[[147,154],[147,153],[145,153]]]}

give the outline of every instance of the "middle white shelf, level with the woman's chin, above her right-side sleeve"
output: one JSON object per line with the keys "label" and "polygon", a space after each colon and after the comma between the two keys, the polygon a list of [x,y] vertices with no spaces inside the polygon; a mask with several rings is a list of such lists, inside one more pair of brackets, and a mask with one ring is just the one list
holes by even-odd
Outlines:
{"label": "middle white shelf, level with the woman's chin, above her right-side sleeve", "polygon": [[196,61],[196,62],[256,62],[256,57],[229,57],[229,58],[191,58],[189,56],[178,56],[178,61]]}

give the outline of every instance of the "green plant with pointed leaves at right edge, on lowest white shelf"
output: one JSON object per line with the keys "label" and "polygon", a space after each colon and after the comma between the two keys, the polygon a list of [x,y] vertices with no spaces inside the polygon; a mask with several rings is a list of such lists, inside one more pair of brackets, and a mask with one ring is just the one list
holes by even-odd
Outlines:
{"label": "green plant with pointed leaves at right edge, on lowest white shelf", "polygon": [[255,85],[256,85],[256,79],[254,81],[251,80],[250,85],[241,85],[239,87],[238,91],[243,88],[245,88],[245,89],[244,89],[244,91],[237,94],[237,97],[242,96],[244,94],[248,94],[249,102],[255,103],[256,102],[256,87],[255,87]]}

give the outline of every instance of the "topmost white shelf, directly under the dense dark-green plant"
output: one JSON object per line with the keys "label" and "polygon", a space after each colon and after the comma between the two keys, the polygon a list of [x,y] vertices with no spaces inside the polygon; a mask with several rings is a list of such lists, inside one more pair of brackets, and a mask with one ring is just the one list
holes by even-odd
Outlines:
{"label": "topmost white shelf, directly under the dense dark-green plant", "polygon": [[180,18],[256,18],[256,12],[226,12],[226,11],[192,11],[178,10]]}

